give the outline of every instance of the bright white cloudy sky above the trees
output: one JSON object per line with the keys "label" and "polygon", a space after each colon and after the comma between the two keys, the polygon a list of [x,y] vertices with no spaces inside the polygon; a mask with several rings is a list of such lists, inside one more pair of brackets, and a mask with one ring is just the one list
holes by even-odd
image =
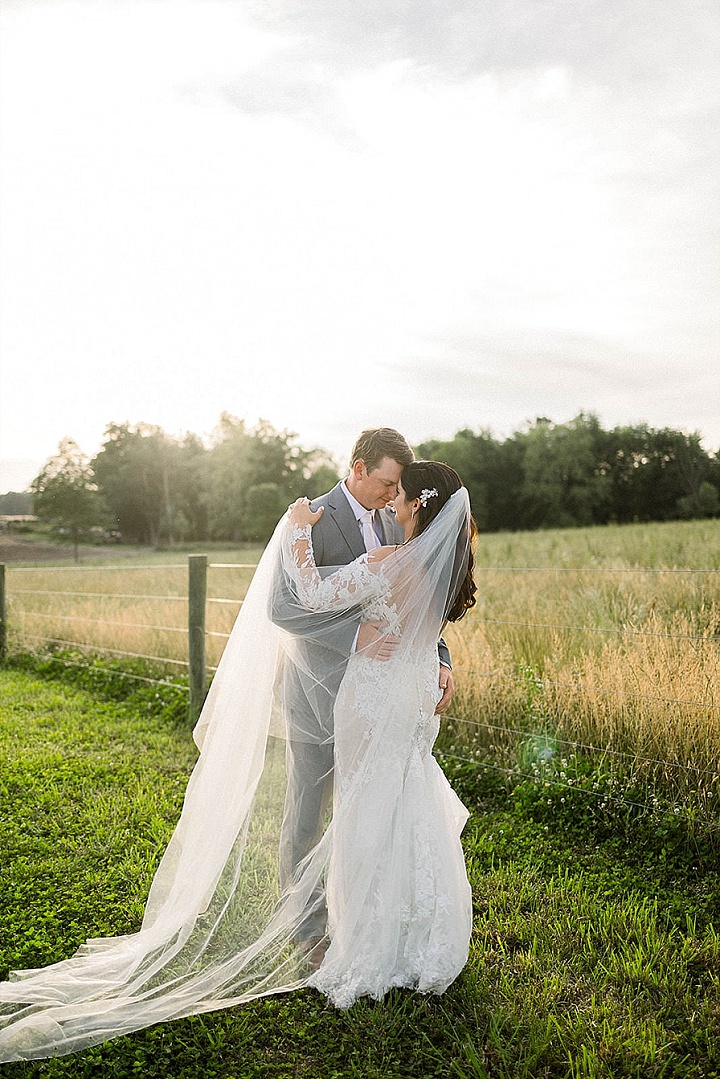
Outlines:
{"label": "bright white cloudy sky above the trees", "polygon": [[715,0],[0,11],[0,491],[222,410],[720,447]]}

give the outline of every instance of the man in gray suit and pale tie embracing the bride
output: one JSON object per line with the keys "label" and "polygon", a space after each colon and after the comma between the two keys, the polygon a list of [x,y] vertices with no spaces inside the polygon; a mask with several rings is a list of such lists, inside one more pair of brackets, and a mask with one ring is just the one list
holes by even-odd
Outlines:
{"label": "man in gray suit and pale tie embracing the bride", "polygon": [[[413,460],[412,450],[396,431],[378,427],[364,431],[353,448],[350,475],[327,494],[312,503],[325,507],[313,528],[315,564],[348,565],[367,550],[382,544],[397,544],[405,533],[385,507],[397,494],[405,465]],[[322,572],[322,569],[321,569]],[[273,620],[290,633],[308,633],[312,613],[301,612],[287,595],[276,597]],[[312,638],[312,628],[309,636]],[[300,638],[302,661],[291,665],[283,685],[287,716],[287,795],[281,837],[283,886],[318,841],[329,803],[332,780],[332,709],[344,667],[353,652],[386,659],[392,639],[377,623],[361,623],[359,617],[340,619],[331,638],[313,642]],[[438,642],[439,685],[443,697],[437,711],[444,712],[452,699],[450,656],[444,641]],[[300,668],[310,677],[303,679]],[[330,673],[331,672],[331,673]],[[316,674],[316,678],[312,675]],[[321,897],[315,910],[300,930],[312,948],[325,932],[326,911]]]}

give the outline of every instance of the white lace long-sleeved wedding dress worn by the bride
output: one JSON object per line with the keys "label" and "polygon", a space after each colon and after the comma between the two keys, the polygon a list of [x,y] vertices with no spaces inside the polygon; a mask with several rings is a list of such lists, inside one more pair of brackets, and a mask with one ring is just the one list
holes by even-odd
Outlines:
{"label": "white lace long-sleeved wedding dress worn by the bride", "polygon": [[[364,556],[322,581],[309,530],[296,533],[294,554],[309,605],[359,599],[364,619],[400,641],[408,633],[408,582],[398,582],[396,602],[392,563]],[[406,645],[384,663],[352,656],[340,685],[326,835],[330,944],[309,980],[338,1008],[395,986],[443,993],[467,959],[472,897],[460,843],[467,810],[432,755],[439,696],[436,634],[422,651]]]}

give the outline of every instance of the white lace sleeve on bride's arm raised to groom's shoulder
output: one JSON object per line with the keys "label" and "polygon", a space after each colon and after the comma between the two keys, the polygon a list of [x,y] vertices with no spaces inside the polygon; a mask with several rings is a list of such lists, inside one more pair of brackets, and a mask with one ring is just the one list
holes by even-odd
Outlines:
{"label": "white lace sleeve on bride's arm raised to groom's shoulder", "polygon": [[289,525],[289,558],[286,563],[298,599],[312,611],[344,611],[378,592],[378,574],[368,565],[366,555],[329,576],[321,577],[315,565],[310,524],[304,528]]}

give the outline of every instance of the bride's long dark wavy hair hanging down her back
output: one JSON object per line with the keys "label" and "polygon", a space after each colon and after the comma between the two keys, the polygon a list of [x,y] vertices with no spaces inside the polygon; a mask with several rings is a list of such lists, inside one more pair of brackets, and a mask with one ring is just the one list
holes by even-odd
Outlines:
{"label": "bride's long dark wavy hair hanging down her back", "polygon": [[[420,498],[411,536],[415,540],[437,517],[450,495],[459,491],[463,484],[460,476],[450,465],[443,464],[440,461],[413,461],[403,469],[400,486],[408,502]],[[423,492],[426,492],[424,500]],[[429,492],[437,493],[431,494]],[[470,535],[467,530],[470,530]],[[458,622],[475,605],[477,586],[473,581],[473,566],[475,565],[473,541],[476,535],[477,525],[471,514],[467,525],[463,527],[458,536],[453,579],[460,583],[451,600],[448,598],[447,622]]]}

